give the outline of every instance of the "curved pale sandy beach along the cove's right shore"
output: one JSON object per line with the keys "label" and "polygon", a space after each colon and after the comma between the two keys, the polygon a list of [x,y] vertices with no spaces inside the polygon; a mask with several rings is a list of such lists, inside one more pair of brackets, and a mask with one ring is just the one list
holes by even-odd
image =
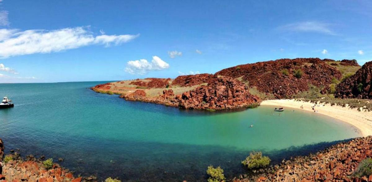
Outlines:
{"label": "curved pale sandy beach along the cove's right shore", "polygon": [[[301,109],[301,106],[303,106],[303,110],[314,112],[312,110],[314,103],[295,101],[294,99],[264,100],[261,105],[297,109]],[[351,109],[349,107],[331,106],[330,104],[324,105],[323,103],[315,106],[315,111],[317,112],[314,112],[314,114],[331,116],[355,126],[360,130],[363,137],[372,135],[372,112],[360,112],[357,109]]]}

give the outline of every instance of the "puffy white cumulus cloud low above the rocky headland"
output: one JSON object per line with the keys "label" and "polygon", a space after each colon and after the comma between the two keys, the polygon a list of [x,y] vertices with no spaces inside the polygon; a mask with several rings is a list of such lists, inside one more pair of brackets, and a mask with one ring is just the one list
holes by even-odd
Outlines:
{"label": "puffy white cumulus cloud low above the rocky headland", "polygon": [[169,68],[169,64],[161,60],[156,55],[153,56],[153,60],[149,63],[145,59],[128,61],[125,71],[130,74],[144,75],[149,71],[163,70]]}

